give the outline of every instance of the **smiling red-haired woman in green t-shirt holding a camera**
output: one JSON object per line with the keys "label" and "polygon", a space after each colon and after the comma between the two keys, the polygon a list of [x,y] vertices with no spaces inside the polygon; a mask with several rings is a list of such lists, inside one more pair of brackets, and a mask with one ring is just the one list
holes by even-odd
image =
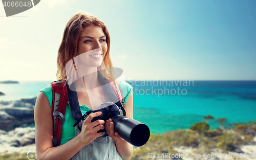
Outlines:
{"label": "smiling red-haired woman in green t-shirt holding a camera", "polygon": [[[74,60],[77,59],[78,60]],[[100,71],[104,77],[111,76],[111,71],[105,73],[104,68],[112,67],[110,59],[110,35],[103,21],[95,16],[84,13],[75,14],[68,22],[63,34],[58,52],[58,79],[73,82],[67,77],[66,64],[73,60],[80,79],[75,81],[78,102],[82,114],[90,109],[97,109],[106,102],[103,87],[97,76]],[[77,63],[79,62],[79,63]],[[81,72],[80,72],[81,71]],[[79,73],[80,72],[80,73]],[[79,81],[82,81],[80,83]],[[118,81],[124,97],[124,109],[127,118],[133,118],[132,87],[124,81]],[[68,84],[67,84],[68,85]],[[130,159],[133,146],[123,140],[117,132],[111,119],[91,120],[101,115],[101,112],[91,113],[82,123],[81,132],[75,136],[71,116],[67,105],[66,121],[62,124],[61,143],[53,147],[52,123],[52,90],[51,85],[41,89],[36,100],[35,138],[37,159]],[[106,129],[109,136],[101,137],[99,130]]]}

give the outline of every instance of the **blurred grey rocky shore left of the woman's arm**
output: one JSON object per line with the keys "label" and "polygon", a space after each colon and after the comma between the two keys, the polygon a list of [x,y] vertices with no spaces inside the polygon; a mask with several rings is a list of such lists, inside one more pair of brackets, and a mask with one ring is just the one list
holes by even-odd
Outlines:
{"label": "blurred grey rocky shore left of the woman's arm", "polygon": [[0,154],[35,151],[35,98],[0,102]]}

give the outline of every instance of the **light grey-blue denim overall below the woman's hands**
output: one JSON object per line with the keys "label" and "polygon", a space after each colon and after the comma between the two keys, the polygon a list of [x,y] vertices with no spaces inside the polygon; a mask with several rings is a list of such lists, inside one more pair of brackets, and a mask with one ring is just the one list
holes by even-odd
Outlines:
{"label": "light grey-blue denim overall below the woman's hands", "polygon": [[[75,136],[80,133],[80,130],[76,126]],[[79,152],[77,152],[72,160],[122,160],[116,150],[116,143],[110,136],[103,136],[96,138],[92,143],[84,146]]]}

